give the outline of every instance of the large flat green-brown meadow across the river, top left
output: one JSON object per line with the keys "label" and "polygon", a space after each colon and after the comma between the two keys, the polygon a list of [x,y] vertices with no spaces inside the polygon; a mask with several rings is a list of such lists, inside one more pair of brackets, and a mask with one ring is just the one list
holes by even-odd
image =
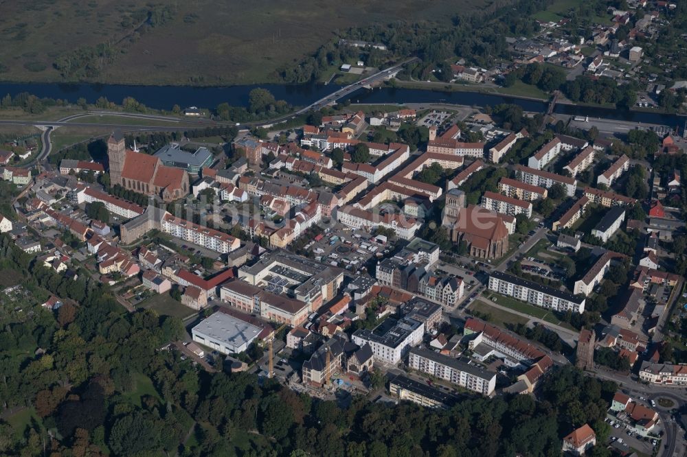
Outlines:
{"label": "large flat green-brown meadow across the river, top left", "polygon": [[[339,30],[394,21],[437,21],[481,10],[487,0],[12,1],[0,14],[0,78],[120,84],[277,82]],[[153,14],[151,14],[153,13]],[[155,16],[155,22],[146,17]],[[45,37],[49,37],[46,39]],[[105,45],[97,73],[71,69],[66,53]],[[109,49],[107,48],[109,47]],[[72,54],[74,56],[74,54]],[[62,59],[60,59],[62,58]],[[54,67],[65,62],[63,76]],[[98,68],[100,67],[100,68]]]}

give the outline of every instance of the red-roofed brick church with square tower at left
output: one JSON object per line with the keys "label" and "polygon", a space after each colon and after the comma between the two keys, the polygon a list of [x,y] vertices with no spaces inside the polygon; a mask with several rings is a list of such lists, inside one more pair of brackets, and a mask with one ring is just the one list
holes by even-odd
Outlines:
{"label": "red-roofed brick church with square tower at left", "polygon": [[110,183],[171,202],[188,194],[188,174],[162,165],[160,159],[126,149],[124,136],[114,132],[107,140]]}

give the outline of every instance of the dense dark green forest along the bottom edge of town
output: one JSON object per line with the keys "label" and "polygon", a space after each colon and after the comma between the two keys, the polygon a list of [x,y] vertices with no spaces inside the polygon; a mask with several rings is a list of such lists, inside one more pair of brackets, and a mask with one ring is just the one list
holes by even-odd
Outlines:
{"label": "dense dark green forest along the bottom edge of town", "polygon": [[177,318],[124,312],[87,272],[63,279],[5,235],[0,254],[26,288],[65,300],[28,319],[2,302],[0,404],[32,413],[19,430],[11,414],[0,421],[3,455],[558,456],[573,427],[608,432],[616,384],[572,367],[551,371],[541,401],[473,396],[446,411],[363,397],[340,408],[255,375],[207,373],[166,349],[183,332]]}

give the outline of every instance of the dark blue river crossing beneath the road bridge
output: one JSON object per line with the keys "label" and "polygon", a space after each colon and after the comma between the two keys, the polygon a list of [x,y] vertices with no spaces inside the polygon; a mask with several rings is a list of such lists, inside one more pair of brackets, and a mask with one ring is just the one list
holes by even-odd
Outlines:
{"label": "dark blue river crossing beneath the road bridge", "polygon": [[[195,86],[128,86],[124,84],[43,84],[43,83],[0,83],[0,96],[6,93],[16,95],[21,92],[32,93],[38,97],[67,99],[76,102],[83,97],[89,103],[98,97],[106,97],[111,102],[121,103],[124,97],[134,97],[146,106],[169,110],[178,104],[214,108],[222,102],[233,106],[247,106],[248,94],[252,89],[262,87],[269,90],[277,99],[286,100],[294,106],[308,106],[341,88],[336,84],[260,84],[229,87]],[[402,103],[449,103],[468,106],[495,106],[512,103],[526,111],[543,113],[546,103],[538,100],[509,97],[507,95],[484,94],[476,92],[443,92],[423,89],[403,89],[383,87],[381,89],[360,89],[350,96],[351,102],[375,104]],[[672,128],[685,126],[687,116],[644,113],[639,111],[615,110],[588,106],[556,104],[555,113],[603,117],[622,121],[660,124]]]}

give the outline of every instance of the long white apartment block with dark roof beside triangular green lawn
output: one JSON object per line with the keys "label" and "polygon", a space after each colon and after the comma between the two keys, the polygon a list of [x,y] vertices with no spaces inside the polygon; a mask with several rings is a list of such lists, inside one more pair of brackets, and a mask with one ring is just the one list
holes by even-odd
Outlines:
{"label": "long white apartment block with dark roof beside triangular green lawn", "polygon": [[574,296],[568,292],[499,271],[494,271],[489,276],[489,290],[558,312],[567,312],[569,309],[577,313],[585,311],[584,297]]}

